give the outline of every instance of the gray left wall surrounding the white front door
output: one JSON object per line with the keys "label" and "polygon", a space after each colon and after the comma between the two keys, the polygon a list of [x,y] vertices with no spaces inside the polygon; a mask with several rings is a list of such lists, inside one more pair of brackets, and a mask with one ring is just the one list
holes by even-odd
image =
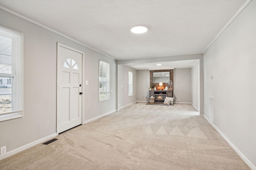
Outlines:
{"label": "gray left wall surrounding the white front door", "polygon": [[[116,63],[92,49],[0,10],[0,25],[24,33],[24,117],[0,122],[7,152],[56,133],[57,42],[85,52],[85,121],[116,109]],[[98,102],[98,61],[110,63],[110,100]]]}

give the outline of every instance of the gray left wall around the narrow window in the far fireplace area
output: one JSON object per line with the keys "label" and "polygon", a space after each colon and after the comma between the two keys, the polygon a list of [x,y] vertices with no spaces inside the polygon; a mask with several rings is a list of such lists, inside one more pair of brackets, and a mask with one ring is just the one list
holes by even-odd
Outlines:
{"label": "gray left wall around the narrow window in the far fireplace area", "polygon": [[[128,71],[132,72],[132,96],[128,96]],[[118,107],[135,102],[137,100],[137,70],[125,65],[118,65],[118,86]]]}

